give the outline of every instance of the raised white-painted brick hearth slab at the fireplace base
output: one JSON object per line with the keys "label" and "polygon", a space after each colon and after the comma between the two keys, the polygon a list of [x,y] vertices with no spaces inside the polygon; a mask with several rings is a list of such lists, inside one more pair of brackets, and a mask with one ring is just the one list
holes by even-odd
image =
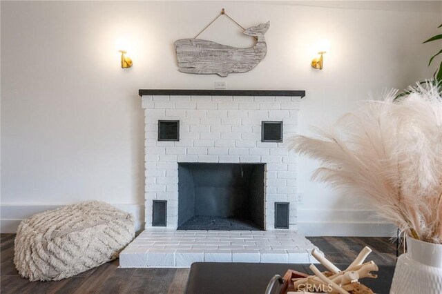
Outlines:
{"label": "raised white-painted brick hearth slab at the fireplace base", "polygon": [[[275,249],[278,248],[278,249]],[[318,248],[296,231],[148,229],[119,255],[120,266],[189,267],[193,262],[317,262]]]}

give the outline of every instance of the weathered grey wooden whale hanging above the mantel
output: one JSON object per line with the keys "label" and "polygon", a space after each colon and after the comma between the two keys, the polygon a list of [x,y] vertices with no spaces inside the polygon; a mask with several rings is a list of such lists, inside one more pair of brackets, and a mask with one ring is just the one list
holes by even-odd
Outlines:
{"label": "weathered grey wooden whale hanging above the mantel", "polygon": [[267,44],[264,34],[270,21],[244,30],[244,34],[257,38],[255,46],[235,48],[202,39],[175,41],[178,69],[180,72],[198,75],[217,74],[227,77],[229,73],[248,72],[264,59]]}

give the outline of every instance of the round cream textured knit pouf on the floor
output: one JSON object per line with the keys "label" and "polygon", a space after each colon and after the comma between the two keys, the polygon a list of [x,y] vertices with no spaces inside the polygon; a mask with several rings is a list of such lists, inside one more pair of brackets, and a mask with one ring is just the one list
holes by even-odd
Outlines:
{"label": "round cream textured knit pouf on the floor", "polygon": [[14,263],[30,281],[61,280],[118,257],[135,237],[133,216],[105,202],[84,202],[23,220]]}

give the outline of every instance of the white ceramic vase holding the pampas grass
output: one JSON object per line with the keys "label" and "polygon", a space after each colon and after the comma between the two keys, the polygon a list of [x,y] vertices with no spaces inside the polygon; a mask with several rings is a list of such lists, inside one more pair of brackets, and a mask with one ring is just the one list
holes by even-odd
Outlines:
{"label": "white ceramic vase holding the pampas grass", "polygon": [[398,258],[390,294],[408,293],[442,293],[442,244],[407,237],[407,253]]}

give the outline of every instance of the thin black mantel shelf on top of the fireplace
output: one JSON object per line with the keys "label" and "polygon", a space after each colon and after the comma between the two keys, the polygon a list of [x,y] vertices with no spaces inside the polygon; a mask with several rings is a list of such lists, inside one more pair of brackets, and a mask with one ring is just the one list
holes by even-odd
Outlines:
{"label": "thin black mantel shelf on top of the fireplace", "polygon": [[305,90],[161,90],[140,89],[140,96],[291,96],[305,97]]}

